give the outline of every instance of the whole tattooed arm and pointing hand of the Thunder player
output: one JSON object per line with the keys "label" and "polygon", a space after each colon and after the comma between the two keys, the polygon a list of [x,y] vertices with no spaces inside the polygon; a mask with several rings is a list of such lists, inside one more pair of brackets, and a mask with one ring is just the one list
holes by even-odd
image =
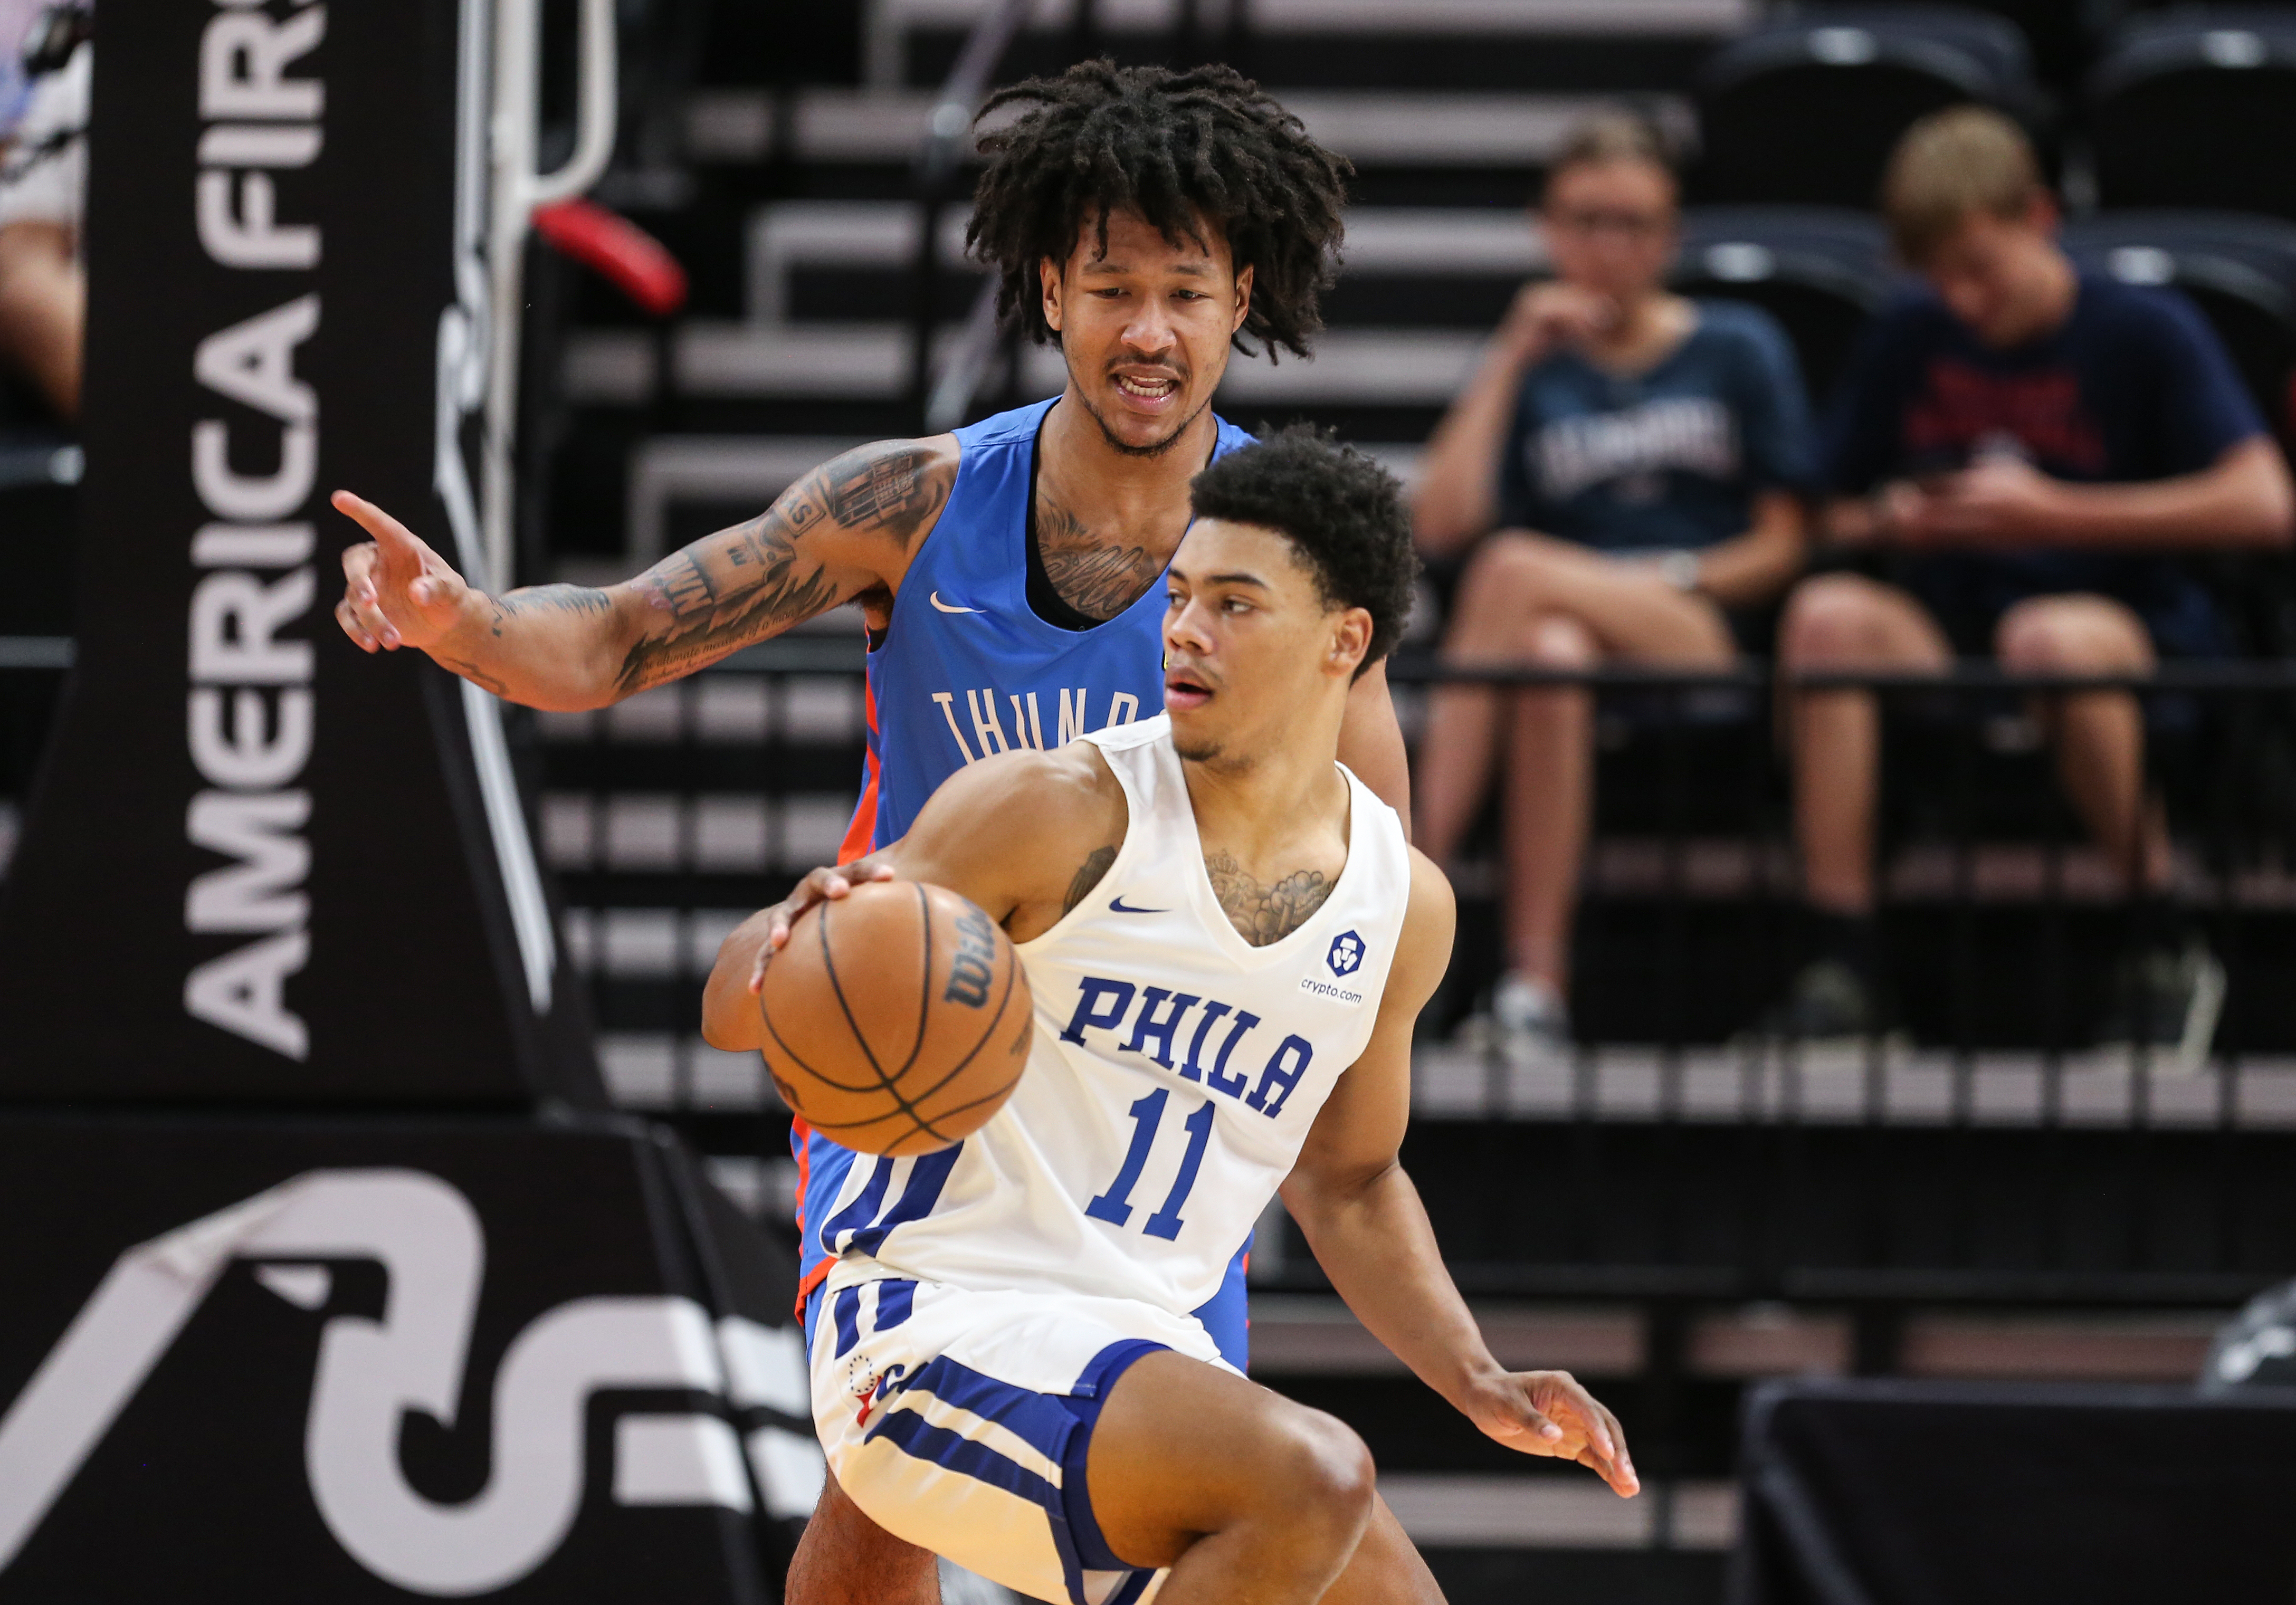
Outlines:
{"label": "whole tattooed arm and pointing hand of the Thunder player", "polygon": [[836,457],[760,517],[606,588],[491,597],[370,501],[335,510],[372,540],[342,553],[335,620],[367,652],[420,648],[528,707],[604,707],[868,592],[891,595],[957,478],[951,436]]}

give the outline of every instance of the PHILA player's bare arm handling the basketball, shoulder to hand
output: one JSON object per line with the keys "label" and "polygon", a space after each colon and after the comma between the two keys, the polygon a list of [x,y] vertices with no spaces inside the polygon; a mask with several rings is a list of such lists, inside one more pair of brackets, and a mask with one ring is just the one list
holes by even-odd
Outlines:
{"label": "PHILA player's bare arm handling the basketball, shoulder to hand", "polygon": [[1125,843],[1125,822],[1123,788],[1091,742],[999,753],[957,769],[898,843],[813,870],[726,937],[703,987],[703,1040],[730,1052],[762,1042],[765,969],[815,902],[847,898],[872,879],[921,879],[971,898],[1013,941],[1029,941],[1100,884]]}

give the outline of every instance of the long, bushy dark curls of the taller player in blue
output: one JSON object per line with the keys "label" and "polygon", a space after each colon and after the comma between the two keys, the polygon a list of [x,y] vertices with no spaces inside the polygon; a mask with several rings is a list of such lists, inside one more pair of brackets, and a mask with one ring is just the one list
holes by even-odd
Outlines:
{"label": "long, bushy dark curls of the taller player in blue", "polygon": [[[1077,230],[1137,211],[1164,239],[1199,239],[1210,225],[1228,241],[1235,271],[1251,269],[1251,310],[1235,349],[1258,340],[1270,360],[1283,347],[1306,356],[1322,328],[1320,298],[1339,276],[1341,214],[1355,168],[1233,67],[1116,67],[1077,62],[1058,78],[1029,78],[980,108],[1029,106],[1017,122],[980,135],[990,165],[974,191],[967,250],[1001,276],[999,317],[1017,317],[1031,340],[1056,342],[1045,321],[1035,266],[1065,262]],[[1210,246],[1212,241],[1199,239]]]}

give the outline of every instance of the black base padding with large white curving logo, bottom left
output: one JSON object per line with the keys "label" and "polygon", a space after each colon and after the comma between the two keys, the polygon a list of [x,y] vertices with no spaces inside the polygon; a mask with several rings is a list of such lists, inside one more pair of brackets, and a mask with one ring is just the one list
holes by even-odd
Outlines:
{"label": "black base padding with large white curving logo, bottom left", "polygon": [[0,1121],[0,1603],[778,1596],[794,1256],[627,1121]]}

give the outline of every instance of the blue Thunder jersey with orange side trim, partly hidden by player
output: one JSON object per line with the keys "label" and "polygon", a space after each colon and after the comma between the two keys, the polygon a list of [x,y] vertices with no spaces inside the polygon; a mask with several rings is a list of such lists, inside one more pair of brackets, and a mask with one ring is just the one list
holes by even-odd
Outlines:
{"label": "blue Thunder jersey with orange side trim, partly hidden by player", "polygon": [[[1015,746],[1065,746],[1164,712],[1162,586],[1093,629],[1063,629],[1029,606],[1035,439],[1052,406],[1035,402],[957,429],[957,482],[893,592],[884,641],[868,654],[868,758],[840,863],[907,836],[925,799],[964,765]],[[1235,425],[1215,422],[1215,457],[1251,443]],[[790,1148],[804,1304],[833,1263],[820,1226],[854,1153],[804,1121],[792,1121]],[[891,1215],[900,1215],[898,1201]],[[1205,1309],[1203,1323],[1240,1368],[1240,1267],[1215,1302],[1221,1309]]]}

